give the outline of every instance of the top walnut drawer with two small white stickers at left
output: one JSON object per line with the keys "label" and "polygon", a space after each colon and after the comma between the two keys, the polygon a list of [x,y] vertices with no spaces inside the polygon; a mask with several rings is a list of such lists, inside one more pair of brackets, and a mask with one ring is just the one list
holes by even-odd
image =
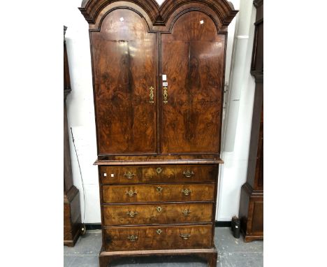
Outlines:
{"label": "top walnut drawer with two small white stickers at left", "polygon": [[217,165],[100,166],[103,184],[215,182]]}

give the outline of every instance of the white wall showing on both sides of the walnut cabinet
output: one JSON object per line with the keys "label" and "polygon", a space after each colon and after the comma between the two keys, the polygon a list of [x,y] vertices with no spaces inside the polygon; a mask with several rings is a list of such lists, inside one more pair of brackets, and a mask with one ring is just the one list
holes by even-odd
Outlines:
{"label": "white wall showing on both sides of the walnut cabinet", "polygon": [[[159,4],[163,2],[163,0],[157,1]],[[82,185],[84,185],[84,222],[99,223],[101,216],[98,173],[96,166],[92,165],[96,159],[96,131],[89,32],[85,18],[78,10],[81,2],[81,0],[67,1],[64,8],[64,24],[68,27],[66,44],[72,87],[72,92],[67,97],[68,127],[73,130],[83,179],[82,183],[71,138],[73,182],[80,189],[82,216],[84,214]],[[240,187],[245,182],[247,173],[254,97],[254,81],[249,75],[249,67],[255,8],[252,8],[250,0],[231,2],[235,9],[240,9],[240,13],[228,27],[225,84],[229,86],[226,87],[228,92],[225,96],[223,114],[225,118],[223,127],[224,125],[228,127],[224,127],[226,131],[223,130],[226,136],[223,138],[221,157],[225,164],[221,166],[219,175],[219,207],[216,215],[216,219],[222,221],[230,220],[233,215],[238,214]]]}

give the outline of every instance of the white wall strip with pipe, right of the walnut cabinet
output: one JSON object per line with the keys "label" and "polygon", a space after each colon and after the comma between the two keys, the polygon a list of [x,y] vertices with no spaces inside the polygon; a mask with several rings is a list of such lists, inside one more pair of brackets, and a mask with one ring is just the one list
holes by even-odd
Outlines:
{"label": "white wall strip with pipe, right of the walnut cabinet", "polygon": [[218,221],[229,221],[233,215],[238,215],[240,189],[247,178],[255,87],[250,66],[256,9],[252,0],[240,0],[239,10],[235,21],[231,73],[224,109],[226,114],[221,153],[224,164],[220,166],[219,172]]}

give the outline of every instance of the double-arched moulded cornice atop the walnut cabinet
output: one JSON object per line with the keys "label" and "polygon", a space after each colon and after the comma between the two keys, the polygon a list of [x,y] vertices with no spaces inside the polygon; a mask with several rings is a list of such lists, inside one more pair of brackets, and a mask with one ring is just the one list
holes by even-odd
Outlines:
{"label": "double-arched moulded cornice atop the walnut cabinet", "polygon": [[[103,8],[117,1],[122,0],[83,0],[79,9],[89,24],[95,24]],[[228,26],[238,13],[238,10],[226,0],[166,0],[161,6],[155,0],[124,0],[124,2],[131,2],[143,8],[154,26],[165,26],[170,15],[186,3],[201,3],[208,6],[217,15],[222,27]]]}

